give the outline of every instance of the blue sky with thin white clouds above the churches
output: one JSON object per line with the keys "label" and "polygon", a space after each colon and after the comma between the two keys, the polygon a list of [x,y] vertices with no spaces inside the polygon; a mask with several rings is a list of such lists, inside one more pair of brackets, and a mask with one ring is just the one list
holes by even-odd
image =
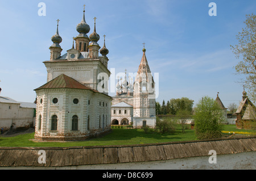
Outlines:
{"label": "blue sky with thin white clouds above the churches", "polygon": [[[46,16],[38,15],[40,2]],[[209,16],[210,2],[216,3],[217,16]],[[217,92],[225,107],[241,101],[242,77],[233,68],[239,60],[230,45],[237,44],[245,15],[255,14],[254,0],[0,1],[1,96],[34,102],[34,89],[46,83],[42,62],[49,60],[56,20],[64,54],[78,35],[84,4],[88,36],[96,16],[98,43],[103,46],[105,34],[108,68],[115,73],[137,72],[146,43],[150,69],[159,73],[156,101],[185,96],[196,103],[205,95],[215,99]]]}

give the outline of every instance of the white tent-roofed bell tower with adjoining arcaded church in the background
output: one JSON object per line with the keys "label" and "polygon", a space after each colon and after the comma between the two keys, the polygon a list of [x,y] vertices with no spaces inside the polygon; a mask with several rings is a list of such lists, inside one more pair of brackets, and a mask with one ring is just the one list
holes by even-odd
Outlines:
{"label": "white tent-roofed bell tower with adjoining arcaded church in the background", "polygon": [[[112,101],[112,124],[133,123],[134,128],[155,127],[155,82],[148,66],[146,49],[143,48],[142,51],[143,56],[134,83],[130,83],[130,79],[127,82],[126,73],[123,82],[117,82],[117,95],[113,96]],[[123,115],[122,111],[128,108],[133,108],[133,111],[130,111],[130,115]],[[124,122],[125,116],[129,122]]]}

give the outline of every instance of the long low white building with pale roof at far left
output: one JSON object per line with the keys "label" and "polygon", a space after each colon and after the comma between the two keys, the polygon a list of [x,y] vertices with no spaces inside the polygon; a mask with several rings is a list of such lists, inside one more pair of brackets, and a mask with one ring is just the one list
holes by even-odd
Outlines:
{"label": "long low white building with pale roof at far left", "polygon": [[0,128],[29,128],[34,125],[36,104],[0,96]]}

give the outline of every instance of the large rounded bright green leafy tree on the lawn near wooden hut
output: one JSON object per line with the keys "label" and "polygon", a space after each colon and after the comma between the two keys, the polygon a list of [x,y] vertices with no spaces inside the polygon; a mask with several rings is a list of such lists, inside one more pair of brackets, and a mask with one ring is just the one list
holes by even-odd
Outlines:
{"label": "large rounded bright green leafy tree on the lawn near wooden hut", "polygon": [[223,113],[220,106],[213,98],[205,96],[195,108],[195,133],[199,139],[221,137],[224,123]]}

